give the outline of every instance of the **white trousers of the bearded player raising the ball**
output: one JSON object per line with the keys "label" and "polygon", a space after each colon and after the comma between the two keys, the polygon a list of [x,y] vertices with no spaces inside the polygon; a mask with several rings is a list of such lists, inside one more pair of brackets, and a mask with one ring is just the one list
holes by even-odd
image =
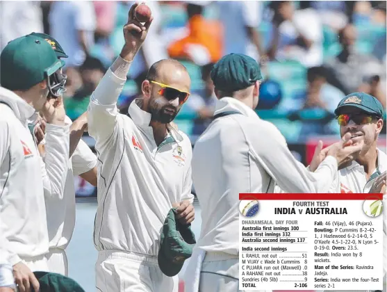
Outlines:
{"label": "white trousers of the bearded player raising the ball", "polygon": [[119,250],[98,253],[96,288],[101,292],[178,292],[179,277],[167,277],[157,257]]}

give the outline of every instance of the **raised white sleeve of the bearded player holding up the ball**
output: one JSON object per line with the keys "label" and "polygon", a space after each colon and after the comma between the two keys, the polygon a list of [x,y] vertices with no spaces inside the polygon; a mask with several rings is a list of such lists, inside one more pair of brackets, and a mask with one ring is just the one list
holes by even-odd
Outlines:
{"label": "raised white sleeve of the bearded player holding up the ball", "polygon": [[117,99],[126,79],[116,76],[110,68],[92,93],[88,106],[88,131],[97,143],[104,143],[117,134]]}

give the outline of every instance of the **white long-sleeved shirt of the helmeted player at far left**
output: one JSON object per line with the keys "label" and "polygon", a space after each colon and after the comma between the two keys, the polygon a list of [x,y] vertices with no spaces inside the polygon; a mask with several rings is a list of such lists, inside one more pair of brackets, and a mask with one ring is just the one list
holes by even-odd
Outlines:
{"label": "white long-sleeved shirt of the helmeted player at far left", "polygon": [[44,189],[63,197],[69,157],[69,127],[47,124],[46,163],[28,129],[32,106],[0,87],[0,222],[15,265],[49,251]]}

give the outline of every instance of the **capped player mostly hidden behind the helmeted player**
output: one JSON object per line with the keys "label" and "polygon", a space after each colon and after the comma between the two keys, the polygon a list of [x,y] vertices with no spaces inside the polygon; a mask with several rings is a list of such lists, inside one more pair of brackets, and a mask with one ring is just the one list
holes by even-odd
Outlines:
{"label": "capped player mostly hidden behind the helmeted player", "polygon": [[[67,54],[57,40],[44,33],[31,33],[40,38],[44,38],[51,45],[58,59],[67,58]],[[56,97],[49,96],[52,103]],[[49,253],[46,254],[49,271],[68,275],[68,262],[65,248],[72,238],[75,227],[75,188],[74,175],[80,175],[90,184],[97,186],[97,156],[92,153],[90,147],[81,139],[83,131],[88,126],[87,114],[81,115],[72,122],[69,117],[65,117],[65,124],[70,127],[69,136],[69,160],[67,165],[67,175],[63,197],[53,197],[46,191],[45,203],[47,212],[47,227],[49,232]],[[42,131],[42,129],[40,129]],[[42,131],[43,132],[43,131]],[[43,139],[39,147],[44,147],[43,152],[47,152],[46,139]],[[43,161],[45,154],[43,153]],[[42,152],[41,152],[42,154]]]}

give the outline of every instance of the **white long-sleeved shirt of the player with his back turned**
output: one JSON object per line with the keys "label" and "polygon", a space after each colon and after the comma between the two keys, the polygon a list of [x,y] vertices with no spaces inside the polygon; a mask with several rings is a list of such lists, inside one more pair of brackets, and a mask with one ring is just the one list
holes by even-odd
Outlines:
{"label": "white long-sleeved shirt of the player with his back turned", "polygon": [[231,97],[217,101],[214,120],[195,143],[192,179],[201,206],[201,234],[195,248],[238,254],[239,193],[326,193],[337,175],[328,156],[315,173],[297,161],[270,122]]}

